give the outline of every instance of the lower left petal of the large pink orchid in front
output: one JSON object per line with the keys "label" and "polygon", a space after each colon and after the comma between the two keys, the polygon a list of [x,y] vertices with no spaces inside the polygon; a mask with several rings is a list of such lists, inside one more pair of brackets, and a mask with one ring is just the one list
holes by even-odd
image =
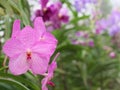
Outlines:
{"label": "lower left petal of the large pink orchid in front", "polygon": [[29,69],[25,54],[19,55],[17,58],[9,61],[10,72],[14,75],[25,73]]}

